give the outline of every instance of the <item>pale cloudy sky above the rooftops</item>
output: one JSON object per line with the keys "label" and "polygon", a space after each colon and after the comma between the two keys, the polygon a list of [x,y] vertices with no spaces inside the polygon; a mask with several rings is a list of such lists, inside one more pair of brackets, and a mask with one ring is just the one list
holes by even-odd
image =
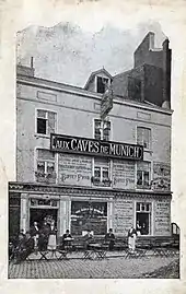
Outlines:
{"label": "pale cloudy sky above the rooftops", "polygon": [[155,33],[155,46],[166,37],[156,22],[121,30],[106,24],[98,31],[61,22],[53,27],[28,26],[18,32],[18,63],[30,66],[34,57],[35,75],[84,86],[92,71],[105,68],[112,75],[133,67],[133,52],[148,32]]}

